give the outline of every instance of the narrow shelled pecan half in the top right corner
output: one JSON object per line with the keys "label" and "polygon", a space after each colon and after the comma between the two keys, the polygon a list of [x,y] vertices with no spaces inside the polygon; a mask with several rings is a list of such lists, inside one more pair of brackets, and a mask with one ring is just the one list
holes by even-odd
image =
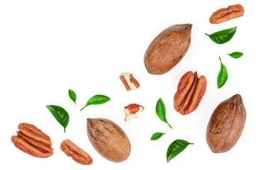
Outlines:
{"label": "narrow shelled pecan half in the top right corner", "polygon": [[210,23],[223,23],[233,18],[243,16],[244,8],[240,4],[228,6],[228,8],[220,8],[210,16]]}

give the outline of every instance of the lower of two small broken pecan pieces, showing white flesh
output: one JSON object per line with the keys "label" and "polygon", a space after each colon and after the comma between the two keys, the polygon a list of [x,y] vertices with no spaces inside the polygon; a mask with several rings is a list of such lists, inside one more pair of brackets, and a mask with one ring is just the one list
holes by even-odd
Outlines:
{"label": "lower of two small broken pecan pieces, showing white flesh", "polygon": [[138,104],[132,103],[128,106],[124,107],[124,113],[126,115],[125,121],[130,120],[131,118],[137,118],[139,113],[141,113],[144,110],[143,106],[140,106]]}

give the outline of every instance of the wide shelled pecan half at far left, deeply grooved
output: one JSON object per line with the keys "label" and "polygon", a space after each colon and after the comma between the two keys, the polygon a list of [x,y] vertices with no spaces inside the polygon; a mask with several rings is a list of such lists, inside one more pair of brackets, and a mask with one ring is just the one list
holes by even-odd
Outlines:
{"label": "wide shelled pecan half at far left, deeply grooved", "polygon": [[18,125],[17,135],[11,137],[11,142],[21,151],[33,157],[47,158],[53,155],[50,137],[43,133],[36,126],[29,123]]}

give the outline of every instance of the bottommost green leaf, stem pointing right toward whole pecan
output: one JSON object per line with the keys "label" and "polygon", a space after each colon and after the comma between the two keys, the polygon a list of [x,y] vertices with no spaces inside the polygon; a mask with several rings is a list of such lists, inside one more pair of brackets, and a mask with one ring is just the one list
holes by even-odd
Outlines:
{"label": "bottommost green leaf, stem pointing right toward whole pecan", "polygon": [[174,140],[174,142],[172,142],[167,149],[167,154],[166,154],[167,162],[170,162],[171,159],[173,159],[179,153],[181,153],[183,149],[186,149],[188,145],[193,145],[193,143],[189,143],[186,140]]}

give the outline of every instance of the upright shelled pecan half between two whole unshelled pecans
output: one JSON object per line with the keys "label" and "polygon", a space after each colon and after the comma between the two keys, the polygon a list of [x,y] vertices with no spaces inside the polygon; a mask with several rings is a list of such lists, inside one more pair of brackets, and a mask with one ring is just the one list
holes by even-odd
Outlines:
{"label": "upright shelled pecan half between two whole unshelled pecans", "polygon": [[187,115],[196,110],[206,92],[206,77],[198,79],[197,72],[186,72],[178,82],[177,92],[174,95],[174,108],[181,115]]}

